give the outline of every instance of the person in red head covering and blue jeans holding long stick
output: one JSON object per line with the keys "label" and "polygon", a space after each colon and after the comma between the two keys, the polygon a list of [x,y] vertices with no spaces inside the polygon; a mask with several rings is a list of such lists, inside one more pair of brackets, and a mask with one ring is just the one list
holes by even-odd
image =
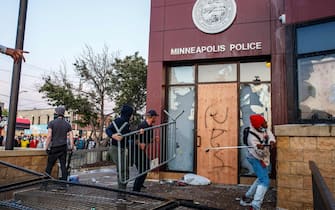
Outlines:
{"label": "person in red head covering and blue jeans holding long stick", "polygon": [[[244,134],[245,135],[245,134]],[[250,115],[250,129],[247,135],[248,148],[247,160],[252,166],[257,179],[240,200],[241,206],[250,206],[250,210],[259,210],[263,203],[264,195],[270,186],[267,167],[270,164],[270,148],[274,148],[276,140],[267,121],[260,114]]]}

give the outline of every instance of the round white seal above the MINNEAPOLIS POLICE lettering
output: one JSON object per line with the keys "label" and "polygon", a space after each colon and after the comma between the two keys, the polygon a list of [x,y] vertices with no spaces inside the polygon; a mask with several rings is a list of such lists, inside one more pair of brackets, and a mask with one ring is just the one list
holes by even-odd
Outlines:
{"label": "round white seal above the MINNEAPOLIS POLICE lettering", "polygon": [[193,22],[205,33],[224,31],[233,23],[235,17],[235,0],[197,0],[193,6]]}

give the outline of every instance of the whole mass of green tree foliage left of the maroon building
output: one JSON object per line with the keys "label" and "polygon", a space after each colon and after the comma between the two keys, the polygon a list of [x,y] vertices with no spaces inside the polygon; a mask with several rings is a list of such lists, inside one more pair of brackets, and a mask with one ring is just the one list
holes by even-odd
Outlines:
{"label": "whole mass of green tree foliage left of the maroon building", "polygon": [[[107,47],[102,53],[95,53],[86,46],[74,67],[79,76],[78,87],[66,78],[66,73],[59,72],[60,78],[59,74],[43,78],[44,84],[39,92],[50,105],[64,105],[67,110],[79,114],[81,117],[75,123],[97,128],[97,139],[102,139],[104,132],[106,99],[115,103],[113,117],[120,113],[124,104],[132,105],[135,113],[145,107],[147,66],[138,52],[119,59],[110,54]],[[140,119],[138,114],[135,114],[135,119]]]}

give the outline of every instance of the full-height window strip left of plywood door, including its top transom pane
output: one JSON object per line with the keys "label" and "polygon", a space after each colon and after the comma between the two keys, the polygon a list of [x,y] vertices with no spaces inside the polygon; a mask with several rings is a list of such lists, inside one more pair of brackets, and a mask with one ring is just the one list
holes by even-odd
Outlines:
{"label": "full-height window strip left of plywood door, including its top transom pane", "polygon": [[170,67],[168,74],[168,112],[171,116],[177,116],[181,111],[185,113],[177,121],[177,155],[167,164],[167,169],[193,171],[195,66]]}

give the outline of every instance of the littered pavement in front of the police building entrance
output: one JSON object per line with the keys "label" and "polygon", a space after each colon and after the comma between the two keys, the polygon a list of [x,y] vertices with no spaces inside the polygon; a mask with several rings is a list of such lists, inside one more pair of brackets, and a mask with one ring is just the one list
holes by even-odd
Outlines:
{"label": "littered pavement in front of the police building entrance", "polygon": [[[131,168],[131,173],[136,173],[136,168]],[[79,182],[85,184],[96,184],[105,187],[117,188],[117,177],[115,166],[107,166],[94,169],[86,169],[72,173],[79,176]],[[246,209],[239,205],[239,198],[245,193],[249,186],[246,185],[223,185],[210,184],[206,186],[179,186],[173,180],[146,180],[146,188],[143,193],[171,199],[193,200],[199,204],[221,209]],[[133,181],[127,186],[131,191]],[[262,209],[276,209],[276,190],[270,188],[266,193]]]}

